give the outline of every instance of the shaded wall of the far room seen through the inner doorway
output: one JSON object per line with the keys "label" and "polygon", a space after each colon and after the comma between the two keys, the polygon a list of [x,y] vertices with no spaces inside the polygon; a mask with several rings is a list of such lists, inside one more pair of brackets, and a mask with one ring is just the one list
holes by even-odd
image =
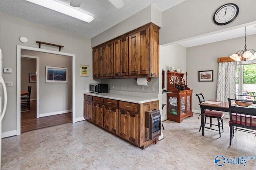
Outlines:
{"label": "shaded wall of the far room seen through the inner doorway", "polygon": [[29,74],[36,74],[36,59],[22,57],[20,60],[20,91],[28,91],[31,86],[30,100],[36,100],[36,83],[29,82]]}

